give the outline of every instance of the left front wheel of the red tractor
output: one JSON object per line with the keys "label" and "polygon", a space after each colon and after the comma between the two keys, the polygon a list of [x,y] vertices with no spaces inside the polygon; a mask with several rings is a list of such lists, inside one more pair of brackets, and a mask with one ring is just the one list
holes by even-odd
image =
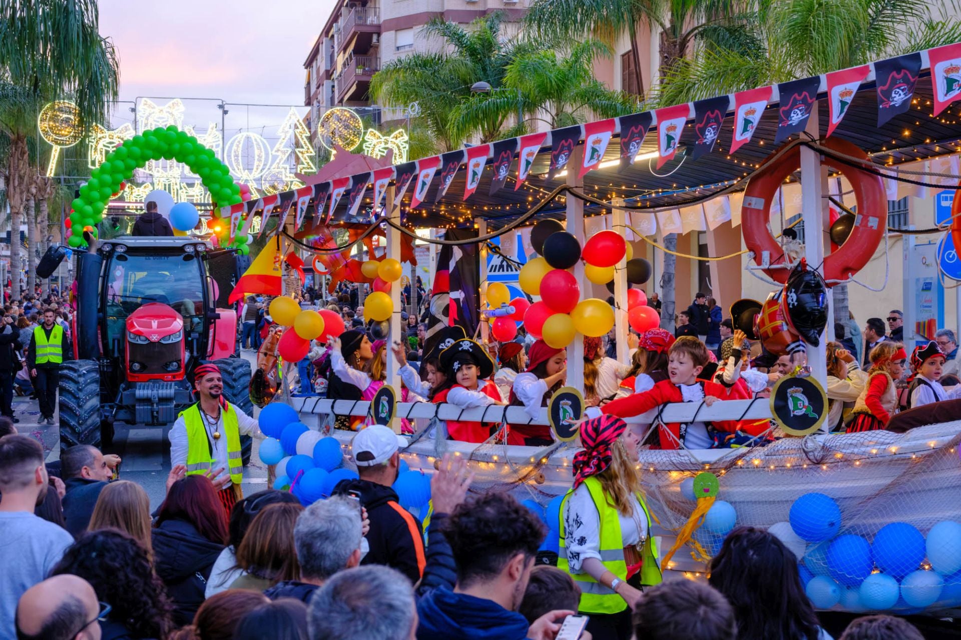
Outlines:
{"label": "left front wheel of the red tractor", "polygon": [[93,360],[68,360],[60,374],[61,450],[75,444],[99,448],[100,367]]}

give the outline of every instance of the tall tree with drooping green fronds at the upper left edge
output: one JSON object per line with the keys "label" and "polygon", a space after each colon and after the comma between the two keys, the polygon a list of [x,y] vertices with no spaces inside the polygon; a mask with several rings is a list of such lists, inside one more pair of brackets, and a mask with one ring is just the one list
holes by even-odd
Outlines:
{"label": "tall tree with drooping green fronds at the upper left edge", "polygon": [[[11,207],[11,265],[18,295],[19,234],[24,206],[34,188],[28,138],[37,114],[50,101],[69,97],[83,122],[103,122],[117,96],[113,45],[98,32],[95,0],[7,0],[0,3],[0,157]],[[33,272],[33,270],[31,270]]]}

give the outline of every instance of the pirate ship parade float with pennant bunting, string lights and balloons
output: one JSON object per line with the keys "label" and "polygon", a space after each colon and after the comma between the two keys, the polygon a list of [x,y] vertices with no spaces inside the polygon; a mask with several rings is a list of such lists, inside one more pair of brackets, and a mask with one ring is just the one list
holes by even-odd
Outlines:
{"label": "pirate ship parade float with pennant bunting, string lights and balloons", "polygon": [[[468,335],[509,340],[513,323],[523,321],[529,333],[568,348],[567,385],[574,390],[583,388],[585,336],[613,326],[624,359],[628,324],[659,323],[637,294],[629,294],[629,280],[646,281],[650,273],[636,272],[650,272],[651,265],[634,263],[632,269],[630,263],[643,257],[628,256],[628,247],[654,245],[650,236],[658,227],[662,234],[715,232],[739,221],[735,246],[712,247],[729,254],[709,259],[739,259],[743,236],[747,272],[767,282],[771,296],[739,301],[735,322],[765,352],[789,355],[796,374],[780,381],[771,398],[666,405],[628,419],[644,433],[652,424],[656,429],[695,419],[771,420],[766,433],[776,436],[764,445],[641,452],[664,568],[702,574],[735,526],[759,526],[799,558],[818,608],[942,614],[961,607],[961,508],[954,499],[961,485],[961,420],[949,415],[949,421],[924,424],[922,416],[922,426],[902,433],[819,431],[827,411],[831,289],[862,284],[856,276],[885,246],[887,201],[899,183],[958,184],[956,162],[948,171],[901,171],[899,165],[957,153],[952,103],[961,94],[959,69],[961,45],[951,45],[355,175],[327,175],[297,191],[222,207],[221,215],[235,216],[232,226],[249,224],[255,215],[276,216],[278,253],[313,253],[318,271],[375,285],[366,320],[387,340],[402,329],[394,284],[399,272],[391,261],[406,259],[402,246],[415,229],[447,229],[443,239],[433,233],[421,238],[448,255],[438,263],[445,279],[434,281],[432,332],[457,324]],[[843,186],[834,190],[831,180]],[[789,225],[774,224],[771,215],[778,188],[797,183],[807,231],[802,237],[784,233]],[[372,195],[364,198],[368,188]],[[287,217],[292,209],[294,220]],[[961,239],[953,214],[953,234]],[[521,288],[540,299],[508,299],[500,287],[488,286],[483,258],[499,250],[491,241],[546,220],[554,222],[541,228],[553,226],[552,232],[531,243],[541,256],[520,274]],[[948,226],[931,231],[943,235]],[[351,257],[352,248],[375,233],[383,233],[385,246],[368,247],[365,261]],[[598,244],[604,248],[597,250]],[[464,256],[480,264],[462,262]],[[795,277],[803,282],[793,285]],[[589,295],[594,284],[609,287],[613,308],[603,288]],[[280,338],[282,359],[303,357],[308,336],[322,334],[323,327],[310,321],[299,327],[291,315],[282,322],[290,325]],[[406,419],[413,433],[395,486],[405,507],[429,517],[427,479],[435,463],[448,453],[462,456],[476,473],[473,490],[509,491],[544,517],[552,531],[545,550],[555,552],[560,496],[571,486],[578,450],[571,419],[582,400],[568,404],[574,411],[565,414],[555,397],[537,420],[520,407],[397,402],[400,380],[389,357],[386,382],[369,402],[289,397],[282,389],[283,402],[268,404],[260,415],[272,436],[261,458],[277,464],[278,485],[312,500],[354,474],[353,433],[334,429],[333,416],[367,416],[399,433]],[[448,419],[551,424],[556,441],[536,448],[507,445],[497,435],[481,444],[449,440]]]}

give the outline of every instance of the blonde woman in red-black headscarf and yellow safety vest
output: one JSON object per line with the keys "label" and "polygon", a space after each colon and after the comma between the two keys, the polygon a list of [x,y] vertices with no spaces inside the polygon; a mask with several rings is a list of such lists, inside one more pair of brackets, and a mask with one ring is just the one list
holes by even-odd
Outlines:
{"label": "blonde woman in red-black headscarf and yellow safety vest", "polygon": [[560,507],[557,566],[578,583],[579,612],[595,638],[630,638],[643,587],[661,581],[636,468],[640,439],[627,426],[613,415],[581,423],[584,448]]}

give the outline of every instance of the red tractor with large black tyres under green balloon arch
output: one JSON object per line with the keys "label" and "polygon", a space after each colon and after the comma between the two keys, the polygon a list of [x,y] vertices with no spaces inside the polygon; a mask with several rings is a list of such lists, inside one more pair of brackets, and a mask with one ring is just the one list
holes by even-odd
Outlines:
{"label": "red tractor with large black tyres under green balloon arch", "polygon": [[[227,304],[248,259],[197,238],[122,236],[78,256],[75,360],[60,383],[62,448],[110,447],[117,422],[163,427],[196,401],[194,367],[213,362],[224,395],[251,414],[251,365],[237,357]],[[250,458],[243,438],[243,461]]]}

